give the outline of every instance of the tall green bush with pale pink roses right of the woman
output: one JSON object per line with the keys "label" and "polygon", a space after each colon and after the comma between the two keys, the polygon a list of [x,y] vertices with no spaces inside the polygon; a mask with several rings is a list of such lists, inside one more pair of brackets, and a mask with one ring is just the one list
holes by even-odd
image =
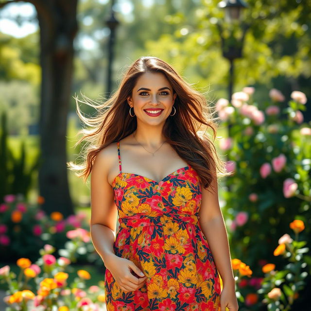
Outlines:
{"label": "tall green bush with pale pink roses right of the woman", "polygon": [[[218,100],[216,110],[222,127],[229,129],[219,147],[232,173],[225,181],[222,208],[230,246],[259,276],[261,267],[272,260],[282,264],[273,253],[277,237],[286,233],[284,224],[311,219],[311,128],[302,114],[304,93],[292,92],[285,103],[283,94],[272,89],[270,102],[257,103],[254,92],[245,87],[231,102]],[[307,240],[310,226],[302,235]],[[258,295],[249,283],[242,281],[245,304]],[[251,294],[249,299],[245,293]]]}

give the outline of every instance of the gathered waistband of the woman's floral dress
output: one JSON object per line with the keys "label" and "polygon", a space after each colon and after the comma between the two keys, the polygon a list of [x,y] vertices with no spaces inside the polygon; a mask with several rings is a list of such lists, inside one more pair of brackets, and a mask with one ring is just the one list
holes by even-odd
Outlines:
{"label": "gathered waistband of the woman's floral dress", "polygon": [[199,216],[197,214],[189,215],[189,214],[161,214],[158,216],[148,216],[148,215],[133,215],[129,217],[121,217],[119,218],[119,224],[121,228],[135,228],[140,226],[149,226],[149,225],[157,225],[163,226],[169,222],[176,223],[190,223],[193,225],[198,225]]}

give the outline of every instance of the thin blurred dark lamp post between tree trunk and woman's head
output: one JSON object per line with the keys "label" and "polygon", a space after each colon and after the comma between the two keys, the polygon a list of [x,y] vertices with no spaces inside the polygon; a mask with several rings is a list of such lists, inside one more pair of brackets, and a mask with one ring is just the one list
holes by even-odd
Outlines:
{"label": "thin blurred dark lamp post between tree trunk and woman's head", "polygon": [[106,20],[106,25],[110,29],[109,42],[108,42],[108,64],[107,64],[107,93],[111,94],[112,91],[112,63],[114,58],[113,47],[115,43],[115,30],[120,22],[117,20],[114,14],[113,6],[114,0],[111,0],[110,16]]}

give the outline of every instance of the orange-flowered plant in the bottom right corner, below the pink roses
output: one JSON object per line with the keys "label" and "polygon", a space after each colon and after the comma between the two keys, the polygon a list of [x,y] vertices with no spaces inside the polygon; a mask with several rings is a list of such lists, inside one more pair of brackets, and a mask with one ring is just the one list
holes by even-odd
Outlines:
{"label": "orange-flowered plant in the bottom right corner, below the pink roses", "polygon": [[[306,258],[303,254],[309,251],[304,247],[306,241],[298,241],[298,233],[304,230],[305,225],[301,220],[294,220],[290,227],[294,230],[295,239],[289,234],[284,234],[278,240],[278,246],[274,251],[275,256],[282,255],[283,258],[290,261],[284,269],[275,270],[274,263],[267,263],[262,267],[265,277],[262,282],[262,289],[259,294],[264,294],[263,302],[268,304],[268,310],[291,310],[294,300],[299,297],[298,292],[305,286],[307,271],[301,272],[301,269],[307,267]],[[310,261],[310,257],[309,257]]]}

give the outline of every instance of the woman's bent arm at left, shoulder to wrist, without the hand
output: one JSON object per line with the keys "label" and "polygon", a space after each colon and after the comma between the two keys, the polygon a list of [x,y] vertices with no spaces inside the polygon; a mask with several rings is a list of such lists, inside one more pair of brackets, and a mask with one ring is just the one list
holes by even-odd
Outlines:
{"label": "woman's bent arm at left, shoulder to wrist, without the hand", "polygon": [[100,151],[91,171],[91,221],[90,234],[93,245],[109,269],[109,263],[116,259],[113,244],[116,237],[118,209],[114,203],[114,192],[107,181],[109,147]]}

